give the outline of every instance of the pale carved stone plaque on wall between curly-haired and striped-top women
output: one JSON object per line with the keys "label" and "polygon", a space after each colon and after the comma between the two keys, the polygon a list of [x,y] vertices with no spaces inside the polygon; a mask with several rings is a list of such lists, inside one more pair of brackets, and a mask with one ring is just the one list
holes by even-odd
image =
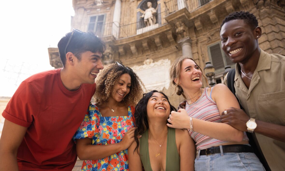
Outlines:
{"label": "pale carved stone plaque on wall between curly-haired and striped-top women", "polygon": [[162,91],[165,87],[169,87],[169,68],[170,60],[161,59],[157,62],[153,62],[152,59],[146,59],[144,64],[141,66],[132,66],[131,67],[135,73],[143,81],[146,90],[158,90]]}

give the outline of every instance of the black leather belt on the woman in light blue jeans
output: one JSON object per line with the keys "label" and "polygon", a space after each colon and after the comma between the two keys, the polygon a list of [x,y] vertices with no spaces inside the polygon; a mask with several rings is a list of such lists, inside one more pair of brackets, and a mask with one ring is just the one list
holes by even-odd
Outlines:
{"label": "black leather belt on the woman in light blue jeans", "polygon": [[[248,145],[223,145],[223,153],[253,153],[253,149]],[[221,153],[220,147],[210,147],[200,151],[201,155],[211,155]]]}

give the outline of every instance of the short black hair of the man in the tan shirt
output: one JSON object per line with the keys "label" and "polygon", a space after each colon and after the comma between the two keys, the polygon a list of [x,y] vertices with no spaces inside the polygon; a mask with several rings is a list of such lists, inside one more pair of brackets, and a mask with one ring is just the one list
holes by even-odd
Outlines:
{"label": "short black hair of the man in the tan shirt", "polygon": [[244,20],[245,23],[247,23],[248,25],[251,26],[252,29],[256,28],[258,26],[258,21],[255,17],[255,15],[253,15],[250,12],[245,12],[245,11],[239,11],[239,12],[233,12],[231,14],[229,14],[228,16],[226,16],[226,18],[223,20],[220,30],[222,28],[222,26],[231,20]]}

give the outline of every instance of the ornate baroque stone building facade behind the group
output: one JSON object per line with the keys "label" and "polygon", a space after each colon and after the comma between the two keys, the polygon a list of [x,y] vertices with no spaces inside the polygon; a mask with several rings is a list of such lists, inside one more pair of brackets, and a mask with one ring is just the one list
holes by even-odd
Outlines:
{"label": "ornate baroque stone building facade behind the group", "polygon": [[[148,3],[151,2],[151,3]],[[225,66],[234,64],[221,50],[222,20],[234,11],[257,16],[260,48],[285,55],[284,0],[73,0],[71,29],[94,31],[107,43],[103,63],[119,61],[131,67],[147,90],[171,96],[169,67],[177,57],[192,57],[204,68],[215,67],[215,82],[223,81]],[[151,20],[146,19],[146,15]],[[150,23],[151,22],[151,23]],[[50,64],[62,67],[58,49],[48,48]],[[170,98],[177,106],[182,100]]]}

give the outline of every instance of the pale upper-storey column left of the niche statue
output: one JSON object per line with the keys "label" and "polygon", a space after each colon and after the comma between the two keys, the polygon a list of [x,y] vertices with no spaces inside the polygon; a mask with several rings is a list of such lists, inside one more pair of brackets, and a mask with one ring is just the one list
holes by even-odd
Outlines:
{"label": "pale upper-storey column left of the niche statue", "polygon": [[121,20],[121,0],[116,0],[113,15],[112,34],[114,37],[119,37],[119,27]]}

